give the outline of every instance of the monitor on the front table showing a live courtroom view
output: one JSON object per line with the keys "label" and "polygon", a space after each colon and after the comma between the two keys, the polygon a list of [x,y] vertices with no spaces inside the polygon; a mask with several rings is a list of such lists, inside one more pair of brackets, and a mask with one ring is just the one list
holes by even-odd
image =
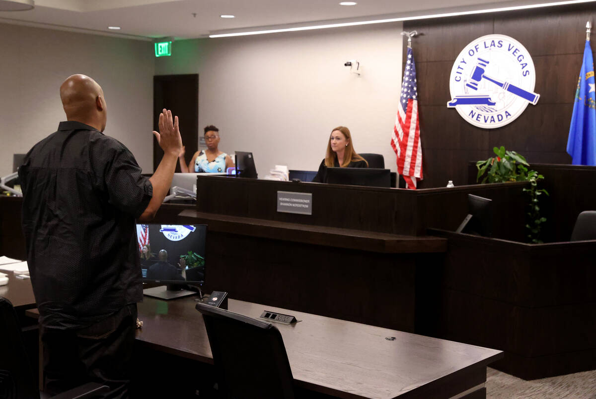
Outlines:
{"label": "monitor on the front table showing a live courtroom view", "polygon": [[195,294],[205,281],[207,225],[137,224],[136,239],[143,282],[166,287],[145,288],[144,294],[172,299]]}

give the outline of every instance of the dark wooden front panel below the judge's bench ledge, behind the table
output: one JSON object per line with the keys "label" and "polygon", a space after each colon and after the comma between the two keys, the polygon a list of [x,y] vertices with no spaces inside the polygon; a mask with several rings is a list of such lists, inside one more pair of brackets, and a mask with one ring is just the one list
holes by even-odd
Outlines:
{"label": "dark wooden front panel below the judge's bench ledge, behind the table", "polygon": [[415,256],[210,233],[206,291],[414,332]]}

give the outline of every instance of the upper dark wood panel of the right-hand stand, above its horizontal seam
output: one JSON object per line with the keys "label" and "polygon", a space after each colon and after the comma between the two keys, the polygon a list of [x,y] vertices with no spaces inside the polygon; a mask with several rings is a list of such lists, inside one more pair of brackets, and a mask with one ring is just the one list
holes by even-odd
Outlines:
{"label": "upper dark wood panel of the right-hand stand, above its horizontal seam", "polygon": [[[596,255],[594,242],[530,245],[454,236],[449,235],[443,287],[524,307],[596,302],[588,288],[596,279],[588,266]],[[565,256],[573,264],[559,262]]]}

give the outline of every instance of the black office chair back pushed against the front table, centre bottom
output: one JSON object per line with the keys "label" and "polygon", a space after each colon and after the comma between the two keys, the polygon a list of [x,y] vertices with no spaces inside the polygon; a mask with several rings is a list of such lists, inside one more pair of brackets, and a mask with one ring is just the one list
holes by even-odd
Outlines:
{"label": "black office chair back pushed against the front table, centre bottom", "polygon": [[197,303],[222,398],[294,398],[280,331],[271,323]]}

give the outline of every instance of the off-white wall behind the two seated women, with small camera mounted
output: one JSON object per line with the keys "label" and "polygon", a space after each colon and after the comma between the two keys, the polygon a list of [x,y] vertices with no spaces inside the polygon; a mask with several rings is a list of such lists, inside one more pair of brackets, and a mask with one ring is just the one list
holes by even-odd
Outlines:
{"label": "off-white wall behind the two seated women, with small camera mounted", "polygon": [[[215,124],[219,148],[252,151],[259,177],[275,164],[316,170],[337,125],[350,128],[357,152],[381,153],[395,171],[401,32],[394,23],[181,40],[156,59],[156,75],[198,73],[199,134]],[[361,77],[343,65],[353,58]]]}

